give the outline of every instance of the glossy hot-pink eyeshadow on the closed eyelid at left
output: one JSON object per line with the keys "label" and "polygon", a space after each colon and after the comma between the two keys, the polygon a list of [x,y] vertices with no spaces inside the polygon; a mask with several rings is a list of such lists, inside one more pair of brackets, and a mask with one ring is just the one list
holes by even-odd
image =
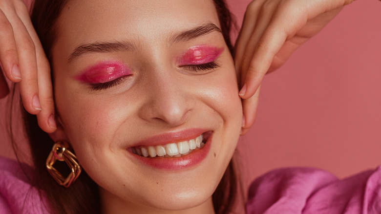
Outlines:
{"label": "glossy hot-pink eyeshadow on the closed eyelid at left", "polygon": [[85,83],[97,84],[106,83],[131,74],[131,70],[124,64],[105,61],[86,68],[76,79]]}

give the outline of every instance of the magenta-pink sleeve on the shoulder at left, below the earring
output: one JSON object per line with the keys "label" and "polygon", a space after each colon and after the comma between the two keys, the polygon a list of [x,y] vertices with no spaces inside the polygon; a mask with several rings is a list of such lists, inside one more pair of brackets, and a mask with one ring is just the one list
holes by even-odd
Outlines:
{"label": "magenta-pink sleeve on the shoulder at left, below the earring", "polygon": [[0,213],[45,214],[40,191],[31,185],[33,169],[0,156]]}

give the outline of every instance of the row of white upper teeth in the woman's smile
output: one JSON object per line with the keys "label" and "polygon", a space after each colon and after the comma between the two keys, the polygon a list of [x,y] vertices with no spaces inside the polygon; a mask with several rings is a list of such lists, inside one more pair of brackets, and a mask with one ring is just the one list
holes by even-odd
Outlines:
{"label": "row of white upper teeth in the woman's smile", "polygon": [[132,152],[145,157],[162,157],[162,156],[182,156],[188,154],[196,148],[201,148],[204,146],[202,135],[191,139],[189,141],[182,141],[178,143],[169,143],[166,145],[159,146],[149,146],[149,147],[140,147],[132,148]]}

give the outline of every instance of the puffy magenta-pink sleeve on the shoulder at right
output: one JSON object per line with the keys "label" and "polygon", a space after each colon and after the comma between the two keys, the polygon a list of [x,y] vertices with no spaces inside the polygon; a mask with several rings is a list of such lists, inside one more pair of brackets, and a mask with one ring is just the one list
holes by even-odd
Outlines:
{"label": "puffy magenta-pink sleeve on the shoulder at right", "polygon": [[380,191],[380,167],[343,180],[313,168],[284,168],[251,184],[246,209],[249,214],[378,214]]}

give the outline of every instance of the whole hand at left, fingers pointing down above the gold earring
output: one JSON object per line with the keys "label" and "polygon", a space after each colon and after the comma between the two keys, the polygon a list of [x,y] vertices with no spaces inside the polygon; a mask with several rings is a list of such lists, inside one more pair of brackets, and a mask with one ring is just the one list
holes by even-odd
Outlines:
{"label": "whole hand at left, fingers pointing down above the gold earring", "polygon": [[[54,132],[53,90],[49,62],[21,0],[0,1],[0,63],[5,76],[20,83],[23,106],[37,114],[39,126]],[[8,93],[4,76],[0,75],[0,98]]]}

